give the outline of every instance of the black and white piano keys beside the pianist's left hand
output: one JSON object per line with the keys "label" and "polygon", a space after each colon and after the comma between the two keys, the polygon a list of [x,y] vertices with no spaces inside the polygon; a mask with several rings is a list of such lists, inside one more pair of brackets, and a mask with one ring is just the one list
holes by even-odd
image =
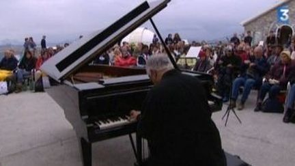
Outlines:
{"label": "black and white piano keys beside the pianist's left hand", "polygon": [[124,126],[126,124],[132,124],[136,122],[136,120],[129,120],[127,115],[122,115],[119,117],[112,117],[104,120],[98,120],[94,122],[97,126],[99,126],[100,130],[114,128],[117,126]]}

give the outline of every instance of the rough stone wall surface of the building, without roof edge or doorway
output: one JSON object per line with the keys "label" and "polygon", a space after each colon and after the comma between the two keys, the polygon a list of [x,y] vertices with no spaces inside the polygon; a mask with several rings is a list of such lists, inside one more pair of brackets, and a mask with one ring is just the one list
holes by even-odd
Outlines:
{"label": "rough stone wall surface of the building, without roof edge or doorway", "polygon": [[[289,1],[287,5],[290,10],[290,26],[295,30],[295,1]],[[270,29],[273,29],[274,27],[277,29],[277,26],[279,26],[279,23],[277,23],[277,8],[275,8],[244,25],[244,30],[253,32],[254,43],[257,44],[260,40],[266,40]]]}

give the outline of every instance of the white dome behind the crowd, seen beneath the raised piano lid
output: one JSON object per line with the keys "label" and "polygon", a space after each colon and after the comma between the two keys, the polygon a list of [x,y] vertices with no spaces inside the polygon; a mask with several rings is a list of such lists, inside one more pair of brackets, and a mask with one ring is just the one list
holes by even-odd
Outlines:
{"label": "white dome behind the crowd, seen beneath the raised piano lid", "polygon": [[154,32],[150,31],[146,27],[139,27],[132,31],[128,36],[123,38],[121,44],[123,42],[135,43],[142,42],[143,44],[147,44],[148,46],[152,43],[152,39],[154,38]]}

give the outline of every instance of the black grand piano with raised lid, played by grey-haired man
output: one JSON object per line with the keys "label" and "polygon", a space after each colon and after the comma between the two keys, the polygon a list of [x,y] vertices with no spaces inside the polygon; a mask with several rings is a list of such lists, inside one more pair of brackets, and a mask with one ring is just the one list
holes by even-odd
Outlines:
{"label": "black grand piano with raised lid, played by grey-haired man", "polygon": [[[42,65],[41,70],[58,83],[46,92],[64,109],[66,119],[76,131],[85,166],[92,165],[92,143],[122,135],[129,135],[136,163],[141,165],[141,139],[136,137],[135,145],[131,135],[137,131],[137,122],[128,121],[127,116],[130,110],[141,109],[153,85],[144,68],[91,65],[91,62],[147,20],[163,42],[152,16],[163,10],[169,1],[141,3],[106,29],[77,40]],[[165,49],[178,69],[167,46]],[[220,111],[221,98],[211,92],[212,76],[182,72],[201,80],[211,108],[208,111]]]}

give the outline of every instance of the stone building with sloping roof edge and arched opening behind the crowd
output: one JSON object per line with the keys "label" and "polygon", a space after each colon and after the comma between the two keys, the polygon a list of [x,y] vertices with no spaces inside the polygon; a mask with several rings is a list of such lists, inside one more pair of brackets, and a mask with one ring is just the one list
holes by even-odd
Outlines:
{"label": "stone building with sloping roof edge and arched opening behind the crowd", "polygon": [[270,31],[277,36],[277,43],[286,45],[294,35],[295,0],[281,0],[268,10],[242,23],[245,31],[251,31],[253,43],[266,41]]}

